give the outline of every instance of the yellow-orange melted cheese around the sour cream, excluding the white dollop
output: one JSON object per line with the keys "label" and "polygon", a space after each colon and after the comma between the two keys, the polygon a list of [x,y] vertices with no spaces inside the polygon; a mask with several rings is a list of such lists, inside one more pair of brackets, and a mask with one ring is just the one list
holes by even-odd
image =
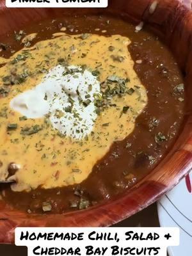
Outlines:
{"label": "yellow-orange melted cheese around the sour cream, excluding the white dollop", "polygon": [[[12,185],[14,191],[78,184],[114,141],[124,140],[133,131],[136,117],[147,105],[147,92],[134,72],[127,49],[130,43],[129,38],[120,35],[60,33],[15,53],[0,68],[0,85],[10,90],[0,100],[0,179],[8,177],[8,164],[14,162],[20,165],[10,177],[17,181]],[[105,96],[104,108],[95,111],[92,129],[78,140],[70,134],[63,136],[58,127],[53,127],[52,113],[43,118],[25,118],[10,106],[15,97],[45,81],[46,74],[58,65],[84,67],[92,72]],[[97,110],[100,101],[95,95]],[[74,115],[73,110],[71,113]]]}

